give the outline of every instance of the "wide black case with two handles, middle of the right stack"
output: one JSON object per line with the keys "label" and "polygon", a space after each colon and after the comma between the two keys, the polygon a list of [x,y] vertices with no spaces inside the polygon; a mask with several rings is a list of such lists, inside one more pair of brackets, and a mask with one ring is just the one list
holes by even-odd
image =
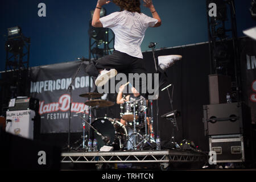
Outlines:
{"label": "wide black case with two handles, middle of the right stack", "polygon": [[204,105],[205,135],[242,134],[242,105],[232,104]]}

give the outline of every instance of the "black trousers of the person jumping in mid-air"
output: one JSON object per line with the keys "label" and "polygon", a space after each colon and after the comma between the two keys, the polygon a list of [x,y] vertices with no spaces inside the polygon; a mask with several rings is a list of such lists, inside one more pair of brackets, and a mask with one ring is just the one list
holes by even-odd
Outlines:
{"label": "black trousers of the person jumping in mid-air", "polygon": [[[143,66],[143,59],[127,55],[126,53],[114,51],[112,55],[101,57],[96,61],[91,61],[86,67],[86,72],[89,76],[97,77],[99,72],[98,69],[116,69],[118,73],[124,73],[128,76],[129,73],[147,73]],[[167,81],[166,73],[158,68],[156,72],[159,74],[159,88],[161,88]],[[154,81],[154,80],[153,80]],[[139,90],[142,90],[146,86],[146,83],[139,83]],[[141,93],[143,97],[147,98],[148,93]]]}

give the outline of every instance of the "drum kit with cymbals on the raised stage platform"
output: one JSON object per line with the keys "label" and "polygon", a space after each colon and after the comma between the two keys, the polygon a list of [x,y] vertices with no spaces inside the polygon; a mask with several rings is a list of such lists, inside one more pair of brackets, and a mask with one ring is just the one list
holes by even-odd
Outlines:
{"label": "drum kit with cymbals on the raised stage platform", "polygon": [[[109,117],[96,118],[92,122],[92,109],[114,105],[114,102],[96,99],[102,95],[103,94],[93,92],[80,94],[80,97],[88,98],[85,105],[89,106],[89,109],[77,113],[84,113],[85,115],[85,111],[89,110],[89,121],[86,121],[85,116],[79,115],[84,121],[82,123],[81,150],[88,150],[88,141],[92,139],[92,136],[97,140],[98,150],[103,146],[112,146],[113,150],[143,150],[144,146],[151,145],[151,143],[155,142],[152,127],[153,121],[152,117],[147,117],[147,106],[144,98],[127,101],[121,105],[121,119],[127,122],[127,126],[121,123],[121,119]],[[89,126],[88,135],[85,135],[86,123]],[[127,130],[133,130],[133,132],[128,134]],[[127,147],[128,145],[130,147]]]}

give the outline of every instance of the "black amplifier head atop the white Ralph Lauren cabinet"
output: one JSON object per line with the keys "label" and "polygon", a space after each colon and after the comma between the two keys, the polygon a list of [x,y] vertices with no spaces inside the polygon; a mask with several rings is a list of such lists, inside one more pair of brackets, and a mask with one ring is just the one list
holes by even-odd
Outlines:
{"label": "black amplifier head atop the white Ralph Lauren cabinet", "polygon": [[8,107],[9,111],[14,110],[27,110],[31,109],[36,112],[39,111],[39,100],[37,98],[32,97],[22,97],[15,99],[15,105],[13,107]]}

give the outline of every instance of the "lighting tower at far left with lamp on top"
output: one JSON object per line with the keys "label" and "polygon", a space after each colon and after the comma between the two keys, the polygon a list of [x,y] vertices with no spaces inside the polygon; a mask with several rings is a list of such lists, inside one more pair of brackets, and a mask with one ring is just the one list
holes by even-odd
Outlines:
{"label": "lighting tower at far left with lamp on top", "polygon": [[10,98],[28,96],[30,38],[22,34],[20,27],[7,28],[5,43],[6,65],[1,80],[1,105],[4,109]]}

